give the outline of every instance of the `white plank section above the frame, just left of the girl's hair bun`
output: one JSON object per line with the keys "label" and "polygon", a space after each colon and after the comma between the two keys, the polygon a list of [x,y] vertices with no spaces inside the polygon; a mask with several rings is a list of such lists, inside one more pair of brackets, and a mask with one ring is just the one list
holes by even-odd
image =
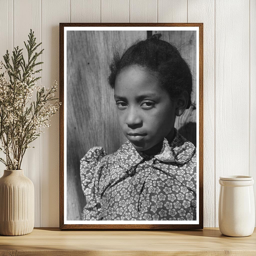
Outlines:
{"label": "white plank section above the frame, just left of the girl's hair bun", "polygon": [[130,22],[157,22],[157,0],[130,0]]}

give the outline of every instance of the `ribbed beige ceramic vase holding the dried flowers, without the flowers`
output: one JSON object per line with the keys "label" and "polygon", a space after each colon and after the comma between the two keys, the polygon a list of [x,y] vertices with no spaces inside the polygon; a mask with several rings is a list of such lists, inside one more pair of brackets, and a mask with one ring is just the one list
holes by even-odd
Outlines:
{"label": "ribbed beige ceramic vase holding the dried flowers, without the flowers", "polygon": [[34,184],[23,170],[4,170],[0,178],[0,234],[20,236],[34,228]]}

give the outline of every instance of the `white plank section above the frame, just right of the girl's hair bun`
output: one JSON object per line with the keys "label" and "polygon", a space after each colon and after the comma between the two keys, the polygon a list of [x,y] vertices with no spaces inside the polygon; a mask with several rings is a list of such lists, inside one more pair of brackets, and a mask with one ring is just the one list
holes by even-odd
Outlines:
{"label": "white plank section above the frame, just right of the girl's hair bun", "polygon": [[158,22],[187,22],[187,0],[158,0]]}

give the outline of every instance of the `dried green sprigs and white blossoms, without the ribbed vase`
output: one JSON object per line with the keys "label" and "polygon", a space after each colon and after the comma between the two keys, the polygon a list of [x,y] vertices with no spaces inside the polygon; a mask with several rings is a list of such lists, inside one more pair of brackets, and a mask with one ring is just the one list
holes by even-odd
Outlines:
{"label": "dried green sprigs and white blossoms, without the ribbed vase", "polygon": [[[28,44],[24,41],[28,53],[27,63],[22,54],[23,49],[18,46],[14,47],[12,64],[8,50],[3,56],[5,64],[0,62],[0,152],[6,155],[6,159],[0,158],[0,161],[7,170],[20,169],[26,149],[31,148],[28,144],[44,132],[42,128],[50,126],[49,118],[61,105],[58,98],[54,98],[57,81],[50,89],[36,83],[41,77],[35,77],[34,74],[42,69],[36,70],[35,67],[43,63],[36,63],[36,59],[44,49],[34,53],[42,43],[36,44],[34,31],[31,29],[28,37]],[[4,72],[3,67],[6,69]],[[35,89],[36,102],[31,100]],[[52,100],[55,100],[54,104],[46,104]]]}

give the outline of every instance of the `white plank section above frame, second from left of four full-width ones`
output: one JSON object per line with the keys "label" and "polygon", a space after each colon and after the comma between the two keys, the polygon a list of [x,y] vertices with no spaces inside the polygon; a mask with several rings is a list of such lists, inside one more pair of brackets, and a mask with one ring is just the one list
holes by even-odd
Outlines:
{"label": "white plank section above frame, second from left of four full-width ones", "polygon": [[129,22],[129,0],[102,0],[101,22]]}

